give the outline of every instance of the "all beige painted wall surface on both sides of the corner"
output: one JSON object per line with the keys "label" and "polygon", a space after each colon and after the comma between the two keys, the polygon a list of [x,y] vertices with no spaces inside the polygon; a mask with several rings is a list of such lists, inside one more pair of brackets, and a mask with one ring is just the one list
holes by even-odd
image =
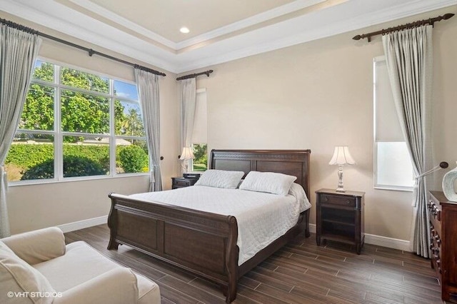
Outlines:
{"label": "all beige painted wall surface on both sides of the corner", "polygon": [[[366,233],[408,240],[411,193],[373,189],[372,60],[383,54],[381,38],[368,44],[351,37],[456,10],[457,6],[453,6],[211,66],[214,73],[197,81],[199,88],[207,88],[209,148],[310,148],[313,193],[318,188],[336,187],[336,167],[328,166],[328,161],[333,146],[348,145],[357,164],[344,168],[344,185],[366,192]],[[13,16],[2,13],[1,17],[59,36]],[[441,21],[433,31],[434,154],[437,162],[448,161],[455,167],[457,17]],[[94,49],[111,54],[109,50]],[[129,67],[96,56],[91,58],[50,41],[45,41],[40,55],[126,80],[134,77]],[[163,181],[169,188],[169,178],[179,173],[179,106],[175,76],[166,74],[160,83],[161,154],[165,157]],[[434,188],[439,188],[443,173],[434,174]],[[147,182],[148,178],[143,176],[10,187],[12,233],[106,216],[109,192],[145,191]],[[311,195],[313,206],[314,201]],[[313,207],[312,223],[314,218]]]}

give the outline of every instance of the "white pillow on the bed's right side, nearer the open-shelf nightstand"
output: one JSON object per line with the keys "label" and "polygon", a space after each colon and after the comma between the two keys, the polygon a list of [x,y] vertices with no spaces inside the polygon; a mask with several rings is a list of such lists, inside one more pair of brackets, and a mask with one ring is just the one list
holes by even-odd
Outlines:
{"label": "white pillow on the bed's right side, nearer the open-shelf nightstand", "polygon": [[258,192],[267,192],[286,196],[296,176],[283,173],[251,171],[244,178],[240,189]]}

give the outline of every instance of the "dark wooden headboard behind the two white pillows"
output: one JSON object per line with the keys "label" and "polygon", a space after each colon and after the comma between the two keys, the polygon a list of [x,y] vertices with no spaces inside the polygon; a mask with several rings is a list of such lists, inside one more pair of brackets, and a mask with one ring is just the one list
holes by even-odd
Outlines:
{"label": "dark wooden headboard behind the two white pillows", "polygon": [[296,183],[309,193],[309,155],[311,150],[211,150],[211,169],[276,172],[296,176]]}

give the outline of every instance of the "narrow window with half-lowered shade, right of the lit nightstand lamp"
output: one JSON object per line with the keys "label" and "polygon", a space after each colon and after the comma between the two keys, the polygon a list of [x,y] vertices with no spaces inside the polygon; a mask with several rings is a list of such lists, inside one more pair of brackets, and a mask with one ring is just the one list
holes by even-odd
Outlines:
{"label": "narrow window with half-lowered shade, right of the lit nightstand lamp", "polygon": [[384,56],[373,60],[374,186],[411,191],[413,166],[398,121]]}

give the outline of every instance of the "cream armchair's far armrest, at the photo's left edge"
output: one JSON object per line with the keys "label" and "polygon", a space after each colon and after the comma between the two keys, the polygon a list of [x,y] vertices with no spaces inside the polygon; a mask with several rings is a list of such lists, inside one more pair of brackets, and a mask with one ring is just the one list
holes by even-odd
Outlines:
{"label": "cream armchair's far armrest, at the photo's left edge", "polygon": [[12,235],[1,241],[30,265],[65,254],[64,233],[56,227]]}

